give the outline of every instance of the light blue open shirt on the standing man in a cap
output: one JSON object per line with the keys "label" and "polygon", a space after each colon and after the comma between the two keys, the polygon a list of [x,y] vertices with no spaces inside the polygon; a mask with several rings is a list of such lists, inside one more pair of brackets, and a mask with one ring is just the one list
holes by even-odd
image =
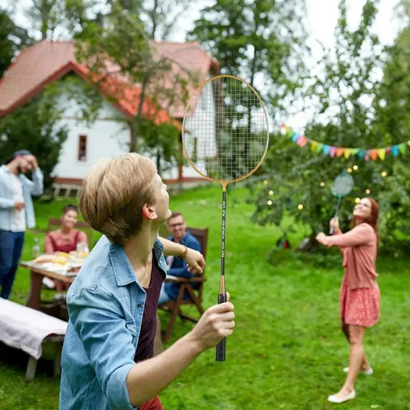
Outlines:
{"label": "light blue open shirt on the standing man in a cap", "polygon": [[[23,174],[18,178],[23,186],[24,211],[26,213],[26,223],[28,228],[35,227],[35,216],[33,200],[31,195],[39,196],[43,194],[43,173],[37,168],[32,173],[33,180],[30,181]],[[0,230],[11,231],[11,221],[13,219],[14,191],[11,171],[5,166],[0,167]]]}

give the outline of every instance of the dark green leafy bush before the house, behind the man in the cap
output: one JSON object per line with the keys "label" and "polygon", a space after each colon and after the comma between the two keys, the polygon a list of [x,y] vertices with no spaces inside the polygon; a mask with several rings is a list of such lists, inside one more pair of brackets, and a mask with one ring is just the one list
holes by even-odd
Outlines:
{"label": "dark green leafy bush before the house, behind the man in the cap", "polygon": [[45,188],[53,182],[50,174],[67,138],[65,127],[56,126],[60,114],[56,108],[57,97],[55,87],[49,86],[25,106],[0,118],[0,163],[5,163],[18,149],[31,151],[44,173]]}

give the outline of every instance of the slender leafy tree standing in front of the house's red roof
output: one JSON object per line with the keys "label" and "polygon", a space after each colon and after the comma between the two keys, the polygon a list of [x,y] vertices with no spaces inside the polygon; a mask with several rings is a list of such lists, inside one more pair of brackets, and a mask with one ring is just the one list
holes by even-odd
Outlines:
{"label": "slender leafy tree standing in front of the house's red roof", "polygon": [[[171,120],[171,127],[159,126],[156,114],[187,99],[191,74],[182,71],[181,75],[175,75],[171,72],[172,64],[177,61],[157,55],[139,14],[134,8],[122,8],[121,3],[124,1],[111,2],[110,12],[100,17],[104,24],[83,17],[83,28],[75,35],[77,59],[88,66],[90,79],[98,87],[110,89],[109,99],[113,103],[129,100],[132,89],[138,100],[136,113],[131,118],[118,117],[131,132],[130,151],[152,152],[152,136],[159,133],[154,140],[161,145],[156,147],[155,154],[168,163],[177,161],[180,131],[172,126],[175,123]],[[134,3],[131,6],[136,7]],[[108,61],[114,70],[107,70]],[[170,75],[173,76],[171,85],[166,85]],[[144,113],[147,105],[152,108],[150,115]],[[95,110],[95,104],[91,103],[90,107]],[[161,163],[157,159],[157,165]]]}

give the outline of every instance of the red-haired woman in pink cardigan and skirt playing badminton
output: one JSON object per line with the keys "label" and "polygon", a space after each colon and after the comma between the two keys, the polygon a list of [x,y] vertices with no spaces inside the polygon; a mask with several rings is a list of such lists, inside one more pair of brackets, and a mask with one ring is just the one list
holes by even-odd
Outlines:
{"label": "red-haired woman in pink cardigan and skirt playing badminton", "polygon": [[373,198],[363,198],[353,209],[354,228],[346,233],[339,229],[339,221],[330,222],[333,236],[323,232],[317,241],[327,247],[338,246],[343,253],[344,276],[340,288],[340,317],[342,331],[350,343],[346,381],[340,391],[328,397],[333,403],[354,399],[355,380],[359,372],[372,375],[373,369],[364,354],[364,332],[375,325],[380,313],[380,290],[376,282],[377,220],[379,206]]}

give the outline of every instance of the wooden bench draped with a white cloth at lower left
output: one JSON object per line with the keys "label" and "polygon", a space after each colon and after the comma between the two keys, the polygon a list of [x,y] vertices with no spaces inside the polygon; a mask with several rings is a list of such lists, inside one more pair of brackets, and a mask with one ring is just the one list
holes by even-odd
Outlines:
{"label": "wooden bench draped with a white cloth at lower left", "polygon": [[61,374],[61,347],[67,322],[46,315],[10,300],[0,298],[0,341],[29,355],[26,378],[35,376],[37,360],[42,356],[42,344],[55,344],[53,374]]}

